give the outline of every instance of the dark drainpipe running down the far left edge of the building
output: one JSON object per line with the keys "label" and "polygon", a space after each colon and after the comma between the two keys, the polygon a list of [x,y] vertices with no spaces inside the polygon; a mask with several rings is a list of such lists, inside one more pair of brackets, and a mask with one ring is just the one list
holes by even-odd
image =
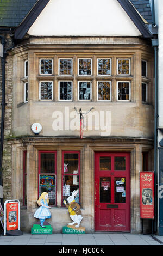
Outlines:
{"label": "dark drainpipe running down the far left edge of the building", "polygon": [[3,158],[3,137],[4,137],[4,111],[5,111],[5,61],[6,53],[4,50],[6,41],[4,36],[0,35],[3,54],[1,56],[2,63],[2,114],[1,114],[1,143],[0,143],[0,199],[3,207],[3,177],[2,177],[2,158]]}

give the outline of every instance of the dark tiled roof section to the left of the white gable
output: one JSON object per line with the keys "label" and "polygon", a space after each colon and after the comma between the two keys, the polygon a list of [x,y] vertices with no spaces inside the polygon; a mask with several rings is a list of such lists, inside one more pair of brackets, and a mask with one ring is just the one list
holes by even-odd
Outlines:
{"label": "dark tiled roof section to the left of the white gable", "polygon": [[37,0],[1,0],[0,27],[17,27]]}

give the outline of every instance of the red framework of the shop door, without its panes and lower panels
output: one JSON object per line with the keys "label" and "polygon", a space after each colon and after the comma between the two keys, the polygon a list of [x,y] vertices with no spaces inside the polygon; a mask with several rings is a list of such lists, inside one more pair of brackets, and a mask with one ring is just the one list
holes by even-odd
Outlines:
{"label": "red framework of the shop door, without its panes and lower panels", "polygon": [[[99,171],[99,157],[111,156],[111,171],[101,170]],[[126,171],[114,171],[114,156],[126,157]],[[99,177],[110,177],[111,179],[111,203],[100,203],[99,199]],[[124,177],[126,178],[126,203],[114,203],[114,178]],[[113,206],[112,206],[113,205]],[[101,226],[99,223],[100,210],[110,210],[111,218],[114,219],[114,212],[118,210],[124,211],[126,209],[126,226],[124,225],[106,225]],[[111,208],[110,208],[111,207]],[[103,212],[104,212],[103,211]],[[101,211],[102,212],[102,211]],[[114,223],[114,220],[111,220]],[[125,231],[130,232],[130,153],[128,152],[96,152],[95,153],[95,231]]]}

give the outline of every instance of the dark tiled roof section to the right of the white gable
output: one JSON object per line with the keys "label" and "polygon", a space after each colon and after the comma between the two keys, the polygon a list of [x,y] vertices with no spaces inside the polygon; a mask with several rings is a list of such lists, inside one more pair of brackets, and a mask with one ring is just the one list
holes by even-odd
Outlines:
{"label": "dark tiled roof section to the right of the white gable", "polygon": [[151,4],[149,0],[130,0],[139,13],[148,23],[152,23]]}

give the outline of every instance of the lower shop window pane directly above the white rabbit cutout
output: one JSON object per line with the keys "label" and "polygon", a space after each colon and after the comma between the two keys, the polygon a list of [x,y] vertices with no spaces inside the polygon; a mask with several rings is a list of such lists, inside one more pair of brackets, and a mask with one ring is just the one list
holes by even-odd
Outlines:
{"label": "lower shop window pane directly above the white rabbit cutout", "polygon": [[[62,190],[63,200],[66,200],[68,197],[70,197],[74,190],[79,190],[79,175],[64,175]],[[77,194],[77,197],[79,200],[79,193]]]}

